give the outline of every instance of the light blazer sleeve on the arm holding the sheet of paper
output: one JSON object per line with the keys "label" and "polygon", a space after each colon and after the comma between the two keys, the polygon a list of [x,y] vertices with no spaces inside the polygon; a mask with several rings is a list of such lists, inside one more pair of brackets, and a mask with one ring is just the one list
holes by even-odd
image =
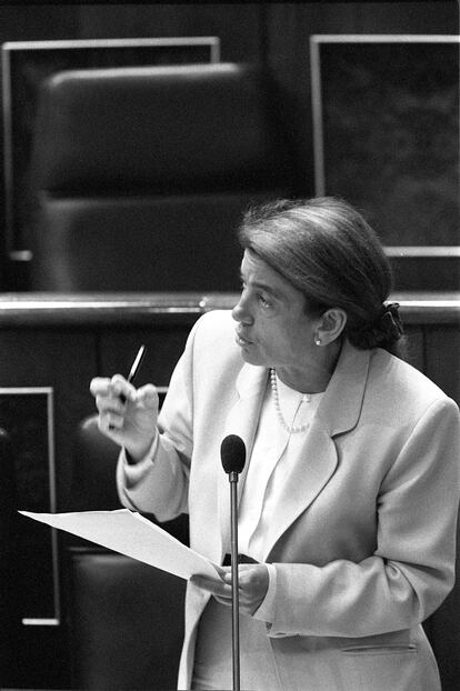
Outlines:
{"label": "light blazer sleeve on the arm holding the sheet of paper", "polygon": [[377,550],[360,563],[276,564],[272,637],[366,637],[408,629],[454,582],[460,488],[459,412],[432,403],[383,478]]}

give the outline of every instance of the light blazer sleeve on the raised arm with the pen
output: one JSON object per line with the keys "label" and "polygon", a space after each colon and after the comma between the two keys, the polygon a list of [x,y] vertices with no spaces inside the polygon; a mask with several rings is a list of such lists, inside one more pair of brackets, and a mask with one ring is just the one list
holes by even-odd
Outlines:
{"label": "light blazer sleeve on the raised arm with the pen", "polygon": [[[121,451],[117,487],[122,504],[169,521],[188,512],[190,459],[193,444],[193,343],[198,322],[171,377],[149,453],[129,464]],[[168,420],[168,425],[164,425]]]}

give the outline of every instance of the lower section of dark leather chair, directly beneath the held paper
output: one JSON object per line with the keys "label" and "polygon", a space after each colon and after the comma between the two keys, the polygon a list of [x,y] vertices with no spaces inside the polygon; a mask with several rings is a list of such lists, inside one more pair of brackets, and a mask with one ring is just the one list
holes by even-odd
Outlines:
{"label": "lower section of dark leather chair, directly beneath the held paper", "polygon": [[72,687],[173,691],[183,638],[184,581],[89,548],[71,550]]}

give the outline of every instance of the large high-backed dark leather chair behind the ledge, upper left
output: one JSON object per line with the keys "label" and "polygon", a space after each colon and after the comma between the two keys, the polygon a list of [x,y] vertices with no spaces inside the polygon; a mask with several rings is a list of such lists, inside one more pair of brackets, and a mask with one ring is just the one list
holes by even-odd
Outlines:
{"label": "large high-backed dark leather chair behind the ledge, upper left", "polygon": [[248,64],[57,73],[32,149],[32,290],[237,290],[242,210],[298,181],[281,99]]}

